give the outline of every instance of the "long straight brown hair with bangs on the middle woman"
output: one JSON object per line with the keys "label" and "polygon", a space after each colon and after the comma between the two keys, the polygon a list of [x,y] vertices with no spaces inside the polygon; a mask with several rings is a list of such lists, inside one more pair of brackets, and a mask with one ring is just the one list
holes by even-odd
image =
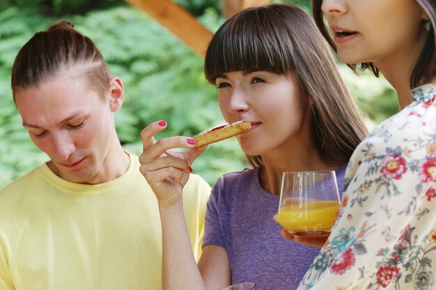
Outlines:
{"label": "long straight brown hair with bangs on the middle woman", "polygon": [[[205,76],[215,84],[232,71],[296,75],[302,99],[313,112],[313,137],[322,160],[347,163],[368,133],[330,49],[311,17],[290,4],[248,8],[228,19],[213,36]],[[260,156],[247,156],[262,166]]]}

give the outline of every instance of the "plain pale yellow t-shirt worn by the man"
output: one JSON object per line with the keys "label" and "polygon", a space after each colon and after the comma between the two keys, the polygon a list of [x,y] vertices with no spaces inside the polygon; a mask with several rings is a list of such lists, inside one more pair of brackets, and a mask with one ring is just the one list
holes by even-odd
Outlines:
{"label": "plain pale yellow t-shirt worn by the man", "polygon": [[[0,191],[1,290],[162,289],[162,231],[138,157],[118,179],[66,182],[47,165]],[[210,186],[191,175],[183,204],[201,252]]]}

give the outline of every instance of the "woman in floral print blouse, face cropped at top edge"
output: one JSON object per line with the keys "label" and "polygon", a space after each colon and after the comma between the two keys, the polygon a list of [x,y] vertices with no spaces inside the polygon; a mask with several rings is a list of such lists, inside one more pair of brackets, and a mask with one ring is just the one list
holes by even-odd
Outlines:
{"label": "woman in floral print blouse, face cropped at top edge", "polygon": [[401,111],[352,155],[343,208],[299,289],[435,289],[435,1],[313,0],[313,13],[341,61],[386,77]]}

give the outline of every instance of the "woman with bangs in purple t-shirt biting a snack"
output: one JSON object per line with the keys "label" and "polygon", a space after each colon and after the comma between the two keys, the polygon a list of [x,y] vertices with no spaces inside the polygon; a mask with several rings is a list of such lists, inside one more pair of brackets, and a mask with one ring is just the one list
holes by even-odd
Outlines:
{"label": "woman with bangs in purple t-shirt biting a snack", "polygon": [[[159,201],[164,289],[216,290],[238,282],[295,289],[319,248],[278,234],[272,215],[281,172],[336,170],[342,188],[345,164],[367,134],[364,122],[327,43],[295,6],[249,8],[228,19],[210,42],[205,76],[218,88],[224,119],[251,122],[238,140],[253,168],[216,182],[197,266],[180,211],[181,188],[204,147],[190,148],[194,139],[183,136],[155,141],[164,121],[143,130],[141,172]],[[169,151],[176,147],[190,149]]]}

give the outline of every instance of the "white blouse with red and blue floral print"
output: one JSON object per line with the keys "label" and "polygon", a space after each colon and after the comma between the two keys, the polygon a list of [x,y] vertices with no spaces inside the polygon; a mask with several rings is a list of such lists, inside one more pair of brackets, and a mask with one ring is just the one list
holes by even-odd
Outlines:
{"label": "white blouse with red and blue floral print", "polygon": [[436,88],[412,97],[352,155],[343,207],[299,290],[436,289]]}

